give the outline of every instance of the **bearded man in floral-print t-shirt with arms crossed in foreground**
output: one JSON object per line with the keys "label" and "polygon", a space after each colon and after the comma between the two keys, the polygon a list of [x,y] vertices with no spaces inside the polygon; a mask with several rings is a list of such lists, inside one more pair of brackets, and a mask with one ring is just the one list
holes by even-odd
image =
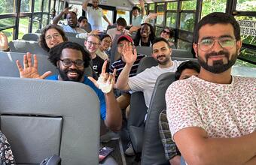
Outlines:
{"label": "bearded man in floral-print t-shirt with arms crossed in foreground", "polygon": [[166,92],[169,127],[187,164],[256,164],[256,79],[231,76],[242,41],[227,13],[197,24],[197,77],[172,83]]}

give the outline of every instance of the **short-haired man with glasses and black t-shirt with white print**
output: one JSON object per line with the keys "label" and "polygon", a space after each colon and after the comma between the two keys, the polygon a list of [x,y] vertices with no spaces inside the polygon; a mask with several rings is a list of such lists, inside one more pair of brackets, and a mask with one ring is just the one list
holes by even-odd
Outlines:
{"label": "short-haired man with glasses and black t-shirt with white print", "polygon": [[[96,51],[99,49],[99,36],[96,34],[90,34],[87,40],[84,41],[84,46],[90,52],[90,58],[93,60],[93,71],[96,72],[97,76],[102,73],[102,66],[104,60],[96,55]],[[108,67],[107,67],[108,68]]]}

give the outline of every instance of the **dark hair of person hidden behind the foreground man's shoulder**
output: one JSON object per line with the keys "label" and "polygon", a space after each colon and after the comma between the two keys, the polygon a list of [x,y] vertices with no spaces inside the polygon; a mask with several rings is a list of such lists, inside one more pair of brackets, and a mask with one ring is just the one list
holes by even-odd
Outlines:
{"label": "dark hair of person hidden behind the foreground man's shoulder", "polygon": [[194,71],[197,71],[197,73],[200,73],[200,65],[197,62],[182,62],[181,65],[178,66],[177,71],[175,72],[175,80],[179,80],[182,71],[184,71],[185,69],[193,69]]}

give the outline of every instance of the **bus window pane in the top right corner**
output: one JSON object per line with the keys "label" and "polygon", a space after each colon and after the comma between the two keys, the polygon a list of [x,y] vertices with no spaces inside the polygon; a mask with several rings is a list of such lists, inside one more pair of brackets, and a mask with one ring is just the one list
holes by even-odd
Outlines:
{"label": "bus window pane in the top right corner", "polygon": [[255,11],[256,1],[255,0],[237,0],[236,10],[239,11]]}

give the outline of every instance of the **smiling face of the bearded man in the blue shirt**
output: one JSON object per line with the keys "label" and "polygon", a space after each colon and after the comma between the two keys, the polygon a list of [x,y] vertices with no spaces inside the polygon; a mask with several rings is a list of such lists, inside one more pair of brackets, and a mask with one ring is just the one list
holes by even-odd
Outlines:
{"label": "smiling face of the bearded man in the blue shirt", "polygon": [[[84,80],[84,65],[78,67],[74,63],[77,60],[84,61],[81,51],[69,48],[62,49],[62,55],[60,59],[61,60],[57,62],[57,68],[59,70],[59,76],[61,77],[61,80],[75,82],[81,82],[82,80]],[[69,67],[64,66],[62,62],[62,60],[67,59],[72,61],[72,65]]]}

